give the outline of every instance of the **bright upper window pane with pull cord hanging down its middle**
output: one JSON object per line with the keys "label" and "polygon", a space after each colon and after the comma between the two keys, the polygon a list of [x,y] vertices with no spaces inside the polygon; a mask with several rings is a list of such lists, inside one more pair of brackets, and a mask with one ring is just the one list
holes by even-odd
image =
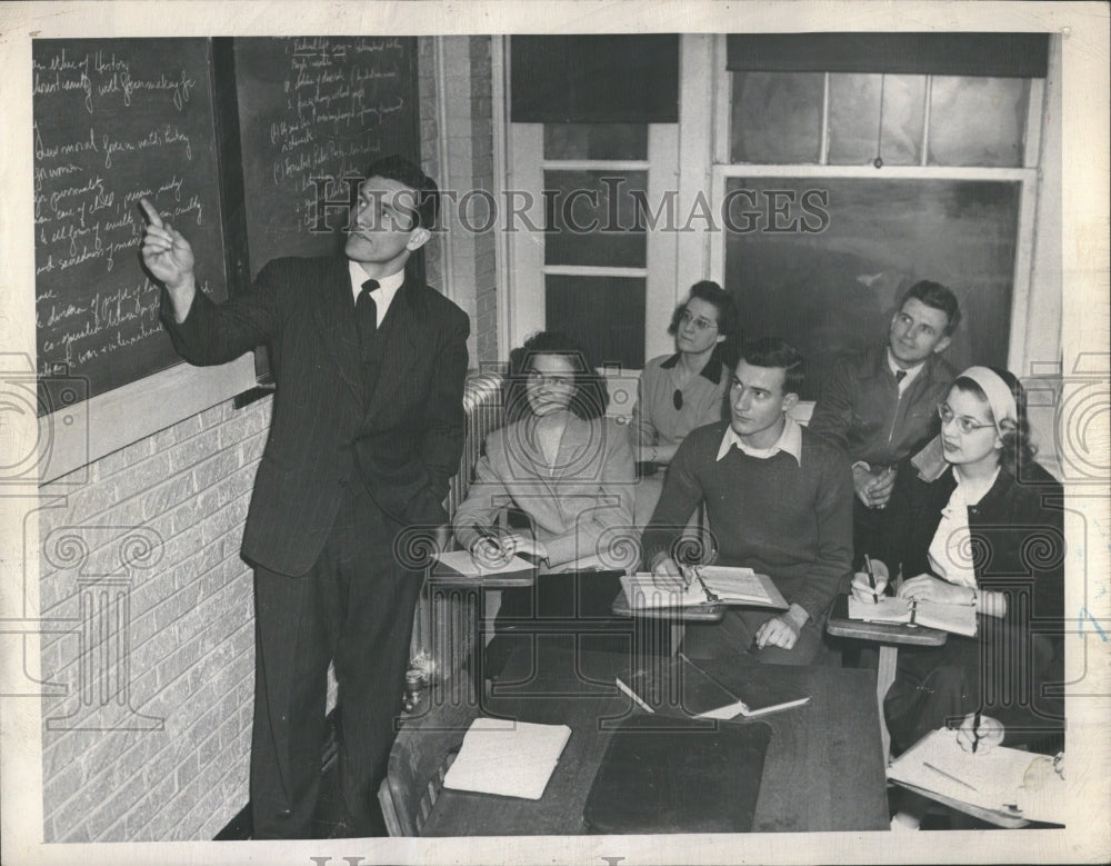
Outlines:
{"label": "bright upper window pane with pull cord hanging down its middle", "polygon": [[875,159],[881,90],[883,138],[879,155],[889,166],[921,161],[924,76],[831,74],[831,165],[859,166]]}

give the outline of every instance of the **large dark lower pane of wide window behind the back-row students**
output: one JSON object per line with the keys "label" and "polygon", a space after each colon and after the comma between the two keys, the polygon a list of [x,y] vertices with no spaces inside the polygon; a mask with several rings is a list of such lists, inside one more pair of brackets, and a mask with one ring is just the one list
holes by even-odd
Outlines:
{"label": "large dark lower pane of wide window behind the back-row students", "polygon": [[730,178],[725,195],[724,286],[745,336],[802,354],[802,399],[838,354],[884,342],[900,296],[922,279],[960,301],[944,357],[958,370],[1007,366],[1020,182],[750,177]]}

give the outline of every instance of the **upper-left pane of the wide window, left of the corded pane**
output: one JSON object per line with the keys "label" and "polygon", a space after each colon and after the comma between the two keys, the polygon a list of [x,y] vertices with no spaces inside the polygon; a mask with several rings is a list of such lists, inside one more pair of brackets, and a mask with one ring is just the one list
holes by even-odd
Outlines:
{"label": "upper-left pane of the wide window, left of the corded pane", "polygon": [[731,161],[818,162],[823,82],[814,72],[734,72]]}

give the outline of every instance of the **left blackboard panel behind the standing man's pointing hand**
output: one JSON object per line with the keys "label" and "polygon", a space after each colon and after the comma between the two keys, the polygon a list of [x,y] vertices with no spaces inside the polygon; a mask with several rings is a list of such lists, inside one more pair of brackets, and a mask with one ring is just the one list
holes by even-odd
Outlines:
{"label": "left blackboard panel behind the standing man's pointing hand", "polygon": [[59,376],[92,397],[180,362],[140,265],[139,197],[204,251],[203,291],[228,283],[209,41],[40,39],[31,57],[43,415]]}

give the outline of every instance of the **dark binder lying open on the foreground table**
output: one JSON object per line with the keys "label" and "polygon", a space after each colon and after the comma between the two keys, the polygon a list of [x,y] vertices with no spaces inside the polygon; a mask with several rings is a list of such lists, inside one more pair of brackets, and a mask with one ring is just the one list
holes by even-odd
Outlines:
{"label": "dark binder lying open on the foreground table", "polygon": [[679,654],[640,668],[618,688],[647,713],[728,720],[798,707],[810,695],[764,676],[747,676],[758,661],[743,658],[691,661]]}

